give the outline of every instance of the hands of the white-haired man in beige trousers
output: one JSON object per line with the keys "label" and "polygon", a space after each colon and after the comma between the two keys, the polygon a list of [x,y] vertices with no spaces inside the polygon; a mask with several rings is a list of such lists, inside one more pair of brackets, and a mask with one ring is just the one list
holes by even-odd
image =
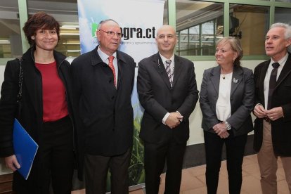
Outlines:
{"label": "hands of the white-haired man in beige trousers", "polygon": [[266,110],[261,104],[258,104],[254,107],[254,115],[260,119],[264,118],[267,122],[276,121],[276,119],[284,117],[282,107]]}

